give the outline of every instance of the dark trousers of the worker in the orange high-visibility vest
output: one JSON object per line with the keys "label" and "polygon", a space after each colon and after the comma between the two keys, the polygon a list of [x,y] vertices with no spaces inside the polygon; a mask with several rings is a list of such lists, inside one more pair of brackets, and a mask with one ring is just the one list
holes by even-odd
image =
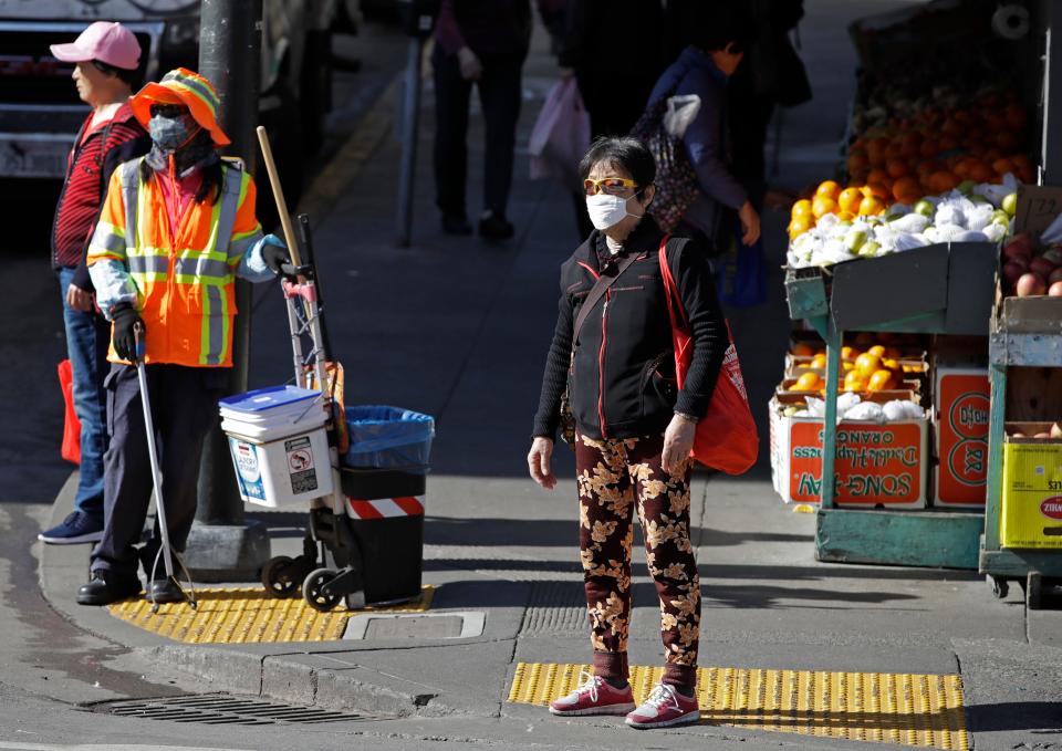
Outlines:
{"label": "dark trousers of the worker in the orange high-visibility vest", "polygon": [[[185,550],[196,517],[202,441],[218,423],[218,399],[228,380],[229,368],[147,366],[166,521],[178,553]],[[113,364],[104,386],[111,446],[103,457],[103,540],[92,551],[90,567],[132,577],[143,561],[149,576],[162,535],[156,519],[152,539],[137,553],[154,486],[136,368]],[[163,565],[159,561],[159,578],[165,576]]]}

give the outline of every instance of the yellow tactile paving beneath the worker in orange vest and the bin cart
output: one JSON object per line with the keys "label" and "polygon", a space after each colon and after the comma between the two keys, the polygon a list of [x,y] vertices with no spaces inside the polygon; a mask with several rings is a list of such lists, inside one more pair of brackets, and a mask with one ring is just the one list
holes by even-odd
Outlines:
{"label": "yellow tactile paving beneath the worker in orange vest and the bin cart", "polygon": [[275,599],[261,587],[217,587],[196,590],[195,611],[187,603],[171,603],[152,613],[152,604],[143,598],[115,603],[107,609],[126,623],[187,644],[331,642],[343,638],[352,615],[371,611],[423,613],[431,607],[435,587],[426,585],[419,598],[402,605],[362,611],[336,607],[319,613],[302,598]]}

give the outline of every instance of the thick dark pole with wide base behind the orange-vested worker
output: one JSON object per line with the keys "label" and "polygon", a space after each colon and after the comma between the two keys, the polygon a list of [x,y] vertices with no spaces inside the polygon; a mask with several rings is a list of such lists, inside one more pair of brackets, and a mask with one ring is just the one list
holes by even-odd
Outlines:
{"label": "thick dark pole with wide base behind the orange-vested worker", "polygon": [[[262,0],[202,0],[199,12],[199,73],[221,101],[218,122],[232,144],[225,156],[239,157],[251,175],[257,164],[261,80]],[[232,325],[229,394],[247,390],[251,338],[251,285],[236,281],[239,313]],[[269,534],[243,515],[220,420],[207,436],[199,467],[199,507],[188,539],[188,566],[204,581],[254,581],[270,556]]]}

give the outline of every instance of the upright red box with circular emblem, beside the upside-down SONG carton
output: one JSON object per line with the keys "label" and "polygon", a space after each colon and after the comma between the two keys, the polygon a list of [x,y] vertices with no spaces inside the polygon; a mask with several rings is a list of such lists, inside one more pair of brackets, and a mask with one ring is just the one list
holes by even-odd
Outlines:
{"label": "upright red box with circular emblem, beside the upside-down SONG carton", "polygon": [[985,508],[988,479],[988,368],[937,366],[934,379],[937,465],[933,504]]}

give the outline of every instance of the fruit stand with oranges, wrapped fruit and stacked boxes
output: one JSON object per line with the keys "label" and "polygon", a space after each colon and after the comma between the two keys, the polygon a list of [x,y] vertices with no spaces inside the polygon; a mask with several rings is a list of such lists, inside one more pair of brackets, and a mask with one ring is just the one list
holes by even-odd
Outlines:
{"label": "fruit stand with oranges, wrapped fruit and stacked boxes", "polygon": [[[1062,191],[1032,185],[1062,161],[1040,137],[1062,111],[1047,84],[1039,109],[1023,103],[1062,64],[1039,56],[1054,10],[1033,17],[1034,44],[993,38],[992,11],[938,0],[853,25],[845,165],[789,227],[790,317],[822,351],[794,333],[770,405],[772,476],[783,501],[818,502],[820,560],[977,570],[998,596],[1021,581],[1032,603],[1062,576],[1062,220],[1058,240],[1040,237]],[[944,83],[891,79],[896,45],[944,61]],[[948,69],[960,58],[985,67],[964,81]],[[1019,497],[1034,507],[1023,519],[1048,519],[1035,542]]]}

